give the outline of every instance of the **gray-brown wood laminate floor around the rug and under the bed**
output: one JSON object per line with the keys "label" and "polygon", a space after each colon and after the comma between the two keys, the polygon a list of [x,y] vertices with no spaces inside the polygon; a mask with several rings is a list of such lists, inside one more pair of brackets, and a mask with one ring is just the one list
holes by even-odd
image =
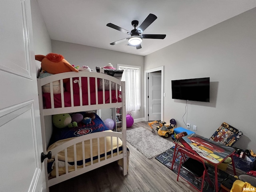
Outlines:
{"label": "gray-brown wood laminate floor around the rug and under the bed", "polygon": [[[147,122],[134,123],[132,126],[137,127],[151,130]],[[50,192],[197,192],[182,178],[177,182],[177,174],[155,158],[146,158],[129,143],[128,147],[130,164],[126,176],[114,162],[56,184],[50,187]]]}

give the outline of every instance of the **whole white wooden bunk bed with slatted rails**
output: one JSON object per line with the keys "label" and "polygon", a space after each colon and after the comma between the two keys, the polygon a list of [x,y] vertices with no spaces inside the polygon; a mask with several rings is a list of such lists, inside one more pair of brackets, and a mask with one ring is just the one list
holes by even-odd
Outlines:
{"label": "whole white wooden bunk bed with slatted rails", "polygon": [[[99,90],[99,80],[102,82],[102,90],[105,91],[97,91]],[[60,94],[53,94],[54,82],[56,81],[60,83]],[[74,84],[74,82],[77,84]],[[108,83],[106,84],[106,82]],[[73,90],[74,86],[79,85],[76,87],[79,91],[68,92],[68,98],[70,99],[68,103],[66,102],[67,93],[64,88],[67,83],[70,84],[70,90]],[[95,88],[92,87],[92,84]],[[48,98],[42,92],[42,87],[45,85],[50,85]],[[87,89],[86,101],[84,101],[85,92],[83,91],[85,88]],[[117,107],[122,108],[123,112],[126,111],[125,82],[121,82],[110,75],[97,72],[65,72],[41,79],[38,78],[38,96],[44,154],[48,152],[47,146],[52,134],[52,115]],[[46,178],[47,187],[114,161],[118,161],[118,164],[122,165],[123,175],[126,175],[129,163],[129,150],[126,146],[125,117],[125,115],[122,116],[122,132],[111,130],[94,132],[64,140],[56,146],[51,146],[51,160],[55,160],[55,168],[54,174],[48,174],[47,162],[50,160],[44,161],[46,175],[48,176]],[[115,121],[115,116],[112,118]],[[79,155],[78,150],[81,153]],[[87,159],[87,162],[85,159]],[[69,160],[74,165],[70,166]],[[82,165],[77,164],[78,160],[82,160]]]}

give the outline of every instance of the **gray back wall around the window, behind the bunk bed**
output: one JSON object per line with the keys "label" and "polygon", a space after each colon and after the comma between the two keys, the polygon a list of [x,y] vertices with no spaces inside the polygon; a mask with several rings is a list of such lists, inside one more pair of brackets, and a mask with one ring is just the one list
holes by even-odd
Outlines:
{"label": "gray back wall around the window, behind the bunk bed", "polygon": [[[64,58],[75,66],[89,66],[96,72],[95,67],[103,67],[111,63],[114,68],[117,64],[140,66],[142,71],[141,87],[144,86],[144,56],[127,54],[112,50],[106,50],[96,47],[84,46],[52,40],[52,52],[62,54]],[[144,118],[144,93],[141,94],[142,108],[132,112],[134,119]],[[102,120],[111,117],[111,110],[102,110]]]}

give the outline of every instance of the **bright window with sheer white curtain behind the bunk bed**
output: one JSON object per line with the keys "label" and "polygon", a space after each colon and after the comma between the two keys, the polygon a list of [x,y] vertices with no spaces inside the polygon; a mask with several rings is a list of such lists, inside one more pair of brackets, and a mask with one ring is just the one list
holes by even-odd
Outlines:
{"label": "bright window with sheer white curtain behind the bunk bed", "polygon": [[122,81],[126,85],[126,111],[131,112],[139,110],[140,101],[140,67],[117,65],[118,69],[124,70]]}

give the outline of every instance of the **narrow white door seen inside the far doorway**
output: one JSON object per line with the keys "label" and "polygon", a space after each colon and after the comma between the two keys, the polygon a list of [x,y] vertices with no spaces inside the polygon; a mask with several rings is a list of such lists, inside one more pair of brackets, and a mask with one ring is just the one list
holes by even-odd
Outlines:
{"label": "narrow white door seen inside the far doorway", "polygon": [[161,72],[148,74],[148,120],[161,120]]}

